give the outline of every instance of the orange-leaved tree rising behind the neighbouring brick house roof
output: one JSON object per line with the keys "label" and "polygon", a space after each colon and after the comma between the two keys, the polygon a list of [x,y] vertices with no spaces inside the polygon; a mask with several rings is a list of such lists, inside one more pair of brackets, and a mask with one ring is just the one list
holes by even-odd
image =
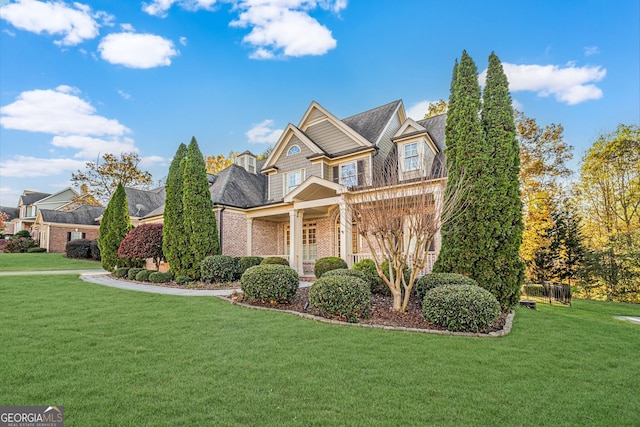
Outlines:
{"label": "orange-leaved tree rising behind the neighbouring brick house roof", "polygon": [[[104,154],[102,162],[87,162],[85,171],[71,174],[71,182],[81,191],[91,194],[101,202],[107,202],[118,184],[125,187],[145,188],[152,183],[151,174],[141,170],[138,165],[140,156],[137,153]],[[84,187],[83,187],[84,186]]]}

